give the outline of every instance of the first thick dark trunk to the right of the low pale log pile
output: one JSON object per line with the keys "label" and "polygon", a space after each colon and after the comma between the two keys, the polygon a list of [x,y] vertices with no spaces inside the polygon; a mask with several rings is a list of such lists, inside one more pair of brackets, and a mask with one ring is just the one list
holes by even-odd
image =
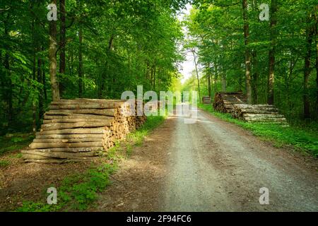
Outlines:
{"label": "first thick dark trunk to the right of the low pale log pile", "polygon": [[[310,18],[308,19],[310,21]],[[314,29],[307,28],[307,41],[306,41],[306,56],[305,56],[305,69],[304,69],[304,117],[310,119],[310,98],[309,98],[309,78],[310,78],[310,59],[312,57],[312,39],[314,36]]]}

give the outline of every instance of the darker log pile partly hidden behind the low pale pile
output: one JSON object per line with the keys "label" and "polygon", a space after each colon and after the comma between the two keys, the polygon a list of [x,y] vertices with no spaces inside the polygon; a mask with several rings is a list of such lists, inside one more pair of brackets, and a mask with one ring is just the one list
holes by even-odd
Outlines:
{"label": "darker log pile partly hidden behind the low pale pile", "polygon": [[230,113],[234,105],[246,104],[247,96],[242,91],[232,93],[216,93],[213,107],[216,111]]}

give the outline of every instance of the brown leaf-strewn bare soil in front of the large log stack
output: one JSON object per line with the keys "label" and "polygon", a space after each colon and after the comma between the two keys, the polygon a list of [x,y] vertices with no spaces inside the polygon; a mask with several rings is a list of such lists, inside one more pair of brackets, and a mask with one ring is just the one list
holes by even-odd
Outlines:
{"label": "brown leaf-strewn bare soil in front of the large log stack", "polygon": [[[90,162],[57,164],[25,163],[20,151],[6,153],[0,160],[10,162],[0,168],[0,211],[15,210],[23,201],[40,201],[47,188],[59,186],[64,177],[84,172]],[[46,200],[44,200],[45,202]]]}

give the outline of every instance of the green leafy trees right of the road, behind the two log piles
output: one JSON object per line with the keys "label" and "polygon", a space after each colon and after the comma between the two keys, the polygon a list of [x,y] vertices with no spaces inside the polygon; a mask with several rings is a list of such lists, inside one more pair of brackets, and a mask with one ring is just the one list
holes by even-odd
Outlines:
{"label": "green leafy trees right of the road, behind the two log piles", "polygon": [[[261,4],[269,20],[260,20]],[[216,92],[225,74],[227,90],[245,90],[249,102],[274,104],[290,119],[318,118],[316,1],[196,0],[186,23],[200,41],[203,95],[206,76]]]}

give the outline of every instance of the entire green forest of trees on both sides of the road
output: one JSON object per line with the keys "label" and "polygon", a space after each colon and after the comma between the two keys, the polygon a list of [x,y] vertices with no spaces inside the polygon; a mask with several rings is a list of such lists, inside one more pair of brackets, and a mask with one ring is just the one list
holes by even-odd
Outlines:
{"label": "entire green forest of trees on both sides of the road", "polygon": [[54,99],[180,86],[184,49],[198,69],[184,89],[243,90],[288,119],[318,118],[315,0],[3,0],[0,40],[1,134],[35,131]]}

